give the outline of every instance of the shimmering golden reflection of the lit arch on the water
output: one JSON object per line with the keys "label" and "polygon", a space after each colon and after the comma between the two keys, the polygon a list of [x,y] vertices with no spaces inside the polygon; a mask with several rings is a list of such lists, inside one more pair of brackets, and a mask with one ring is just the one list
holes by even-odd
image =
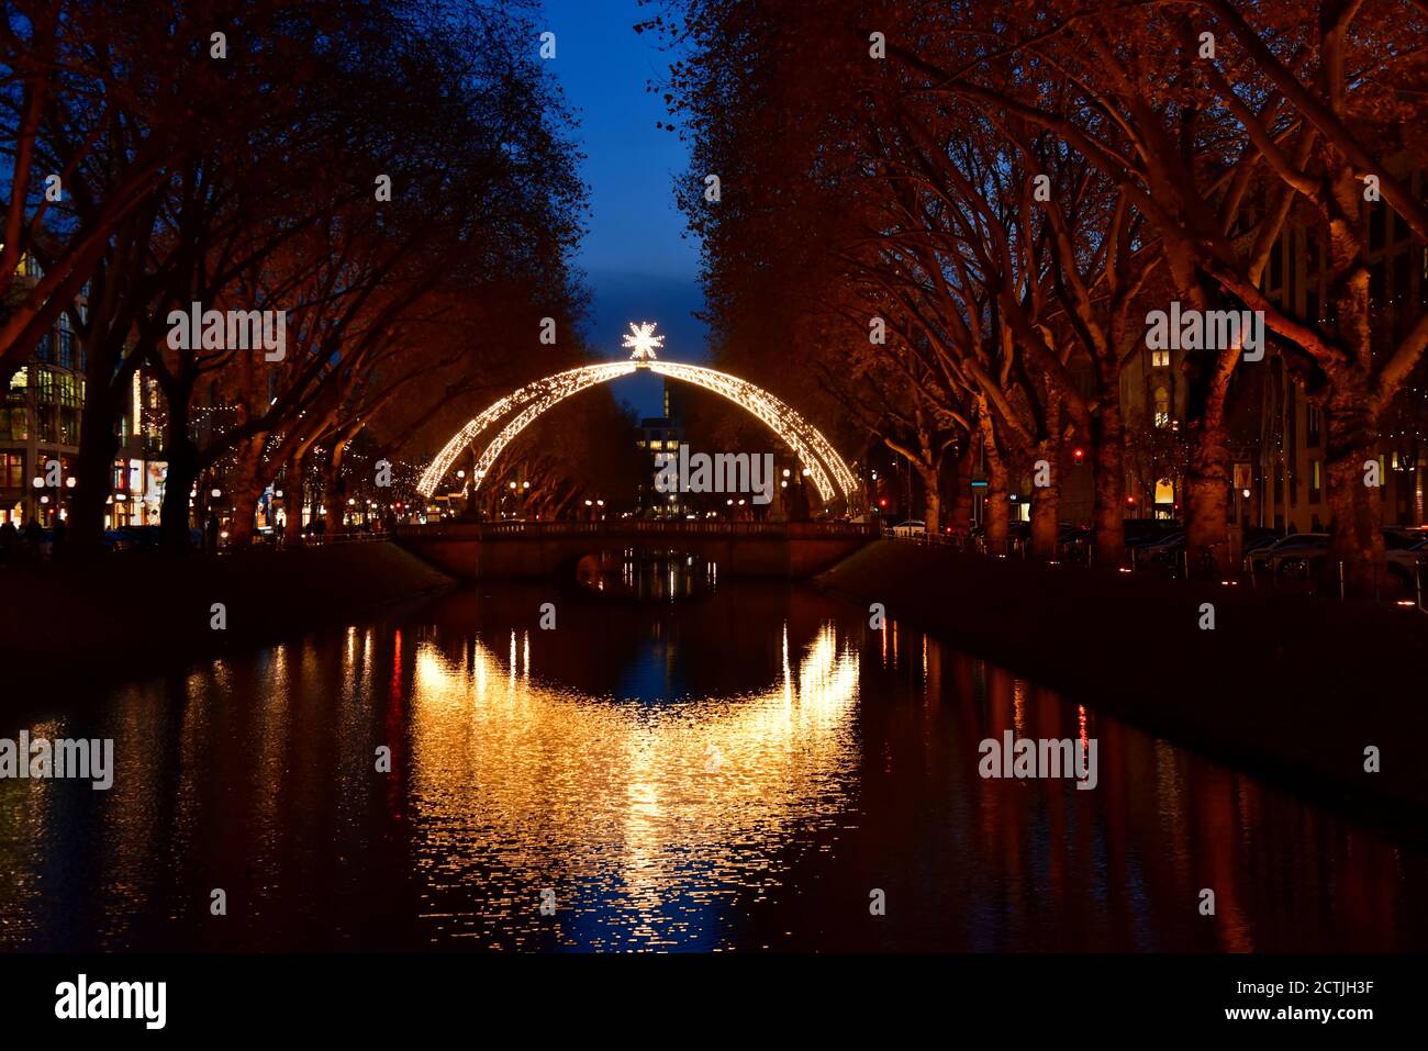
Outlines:
{"label": "shimmering golden reflection of the lit arch on the water", "polygon": [[[858,651],[831,621],[795,673],[785,650],[767,690],[664,705],[531,678],[528,655],[523,675],[503,677],[490,648],[474,645],[474,671],[436,644],[416,655],[411,787],[418,824],[437,837],[438,884],[497,851],[533,885],[564,887],[563,901],[580,884],[601,908],[638,911],[651,932],[640,944],[658,945],[654,932],[673,930],[677,941],[681,930],[671,898],[691,884],[771,878],[767,850],[753,847],[791,820],[831,820],[847,805]],[[503,678],[504,690],[487,690]]]}

